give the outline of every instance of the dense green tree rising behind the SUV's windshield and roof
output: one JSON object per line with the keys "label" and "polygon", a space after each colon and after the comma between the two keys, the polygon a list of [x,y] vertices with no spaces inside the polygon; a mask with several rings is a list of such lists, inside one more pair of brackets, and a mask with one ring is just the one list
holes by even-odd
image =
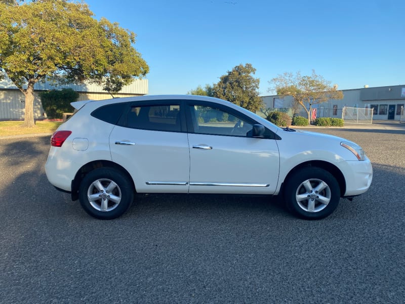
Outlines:
{"label": "dense green tree rising behind the SUV's windshield and roof", "polygon": [[252,112],[263,107],[259,97],[258,78],[254,78],[256,69],[252,64],[239,64],[220,77],[220,81],[212,87],[212,96],[228,100]]}

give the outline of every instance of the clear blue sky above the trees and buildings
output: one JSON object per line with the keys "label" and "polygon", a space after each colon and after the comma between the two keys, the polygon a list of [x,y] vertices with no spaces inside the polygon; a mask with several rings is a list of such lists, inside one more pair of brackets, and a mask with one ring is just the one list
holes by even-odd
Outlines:
{"label": "clear blue sky above the trees and buildings", "polygon": [[339,89],[405,84],[405,1],[85,0],[137,34],[149,94],[186,94],[252,63],[260,95],[312,69]]}

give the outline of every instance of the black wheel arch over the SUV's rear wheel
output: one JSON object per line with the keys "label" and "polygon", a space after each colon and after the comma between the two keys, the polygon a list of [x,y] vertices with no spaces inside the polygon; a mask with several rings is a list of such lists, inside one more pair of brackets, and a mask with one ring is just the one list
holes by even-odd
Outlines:
{"label": "black wheel arch over the SUV's rear wheel", "polygon": [[74,179],[72,180],[72,184],[71,184],[71,198],[72,198],[72,201],[78,200],[78,189],[79,189],[80,182],[83,180],[83,178],[89,172],[91,172],[91,171],[93,171],[95,169],[98,169],[98,168],[105,168],[105,167],[114,168],[116,170],[119,170],[123,174],[127,175],[127,177],[131,180],[132,185],[133,185],[133,187],[135,189],[135,192],[136,192],[134,179],[132,178],[131,174],[123,166],[120,166],[117,163],[107,161],[107,160],[97,160],[97,161],[92,161],[92,162],[89,162],[89,163],[83,165],[77,171],[76,175],[74,176]]}

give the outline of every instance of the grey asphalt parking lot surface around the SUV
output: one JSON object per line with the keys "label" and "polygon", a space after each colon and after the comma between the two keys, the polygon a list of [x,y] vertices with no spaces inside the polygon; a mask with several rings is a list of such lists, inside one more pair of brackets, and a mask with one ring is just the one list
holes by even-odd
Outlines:
{"label": "grey asphalt parking lot surface around the SUV", "polygon": [[404,129],[310,130],[357,142],[374,169],[318,221],[235,195],[137,195],[97,220],[48,183],[49,136],[0,139],[0,302],[402,303]]}

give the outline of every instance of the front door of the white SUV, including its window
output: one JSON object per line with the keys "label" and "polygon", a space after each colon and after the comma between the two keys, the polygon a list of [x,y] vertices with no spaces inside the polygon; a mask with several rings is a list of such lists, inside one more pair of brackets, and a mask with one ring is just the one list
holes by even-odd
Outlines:
{"label": "front door of the white SUV, including its window", "polygon": [[233,109],[191,103],[188,110],[190,193],[274,193],[279,170],[275,139],[251,137],[254,122]]}

